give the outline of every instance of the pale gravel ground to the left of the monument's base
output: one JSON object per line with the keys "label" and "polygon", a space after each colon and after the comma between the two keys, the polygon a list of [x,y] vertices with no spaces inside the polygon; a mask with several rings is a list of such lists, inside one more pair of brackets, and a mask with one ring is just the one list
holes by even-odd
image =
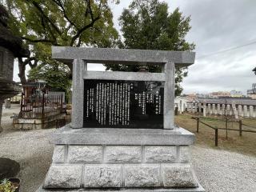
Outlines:
{"label": "pale gravel ground to the left of the monument's base", "polygon": [[0,157],[11,158],[20,163],[20,192],[33,192],[42,184],[50,166],[53,145],[49,143],[50,130],[12,130],[12,119],[9,115],[17,113],[19,108],[3,110],[0,133]]}

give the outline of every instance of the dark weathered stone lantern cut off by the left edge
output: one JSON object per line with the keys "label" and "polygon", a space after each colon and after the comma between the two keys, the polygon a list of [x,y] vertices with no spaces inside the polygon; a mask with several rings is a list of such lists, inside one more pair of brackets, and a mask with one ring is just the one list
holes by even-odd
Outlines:
{"label": "dark weathered stone lantern cut off by the left edge", "polygon": [[22,38],[14,36],[8,29],[8,18],[7,11],[0,5],[0,130],[3,101],[21,92],[13,81],[14,58],[30,55],[29,50],[22,47]]}

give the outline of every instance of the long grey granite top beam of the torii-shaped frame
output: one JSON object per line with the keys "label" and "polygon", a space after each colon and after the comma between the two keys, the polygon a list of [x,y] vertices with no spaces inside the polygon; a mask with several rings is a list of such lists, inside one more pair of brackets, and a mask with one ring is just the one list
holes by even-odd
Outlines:
{"label": "long grey granite top beam of the torii-shaped frame", "polygon": [[194,63],[195,53],[190,51],[53,46],[52,56],[60,62],[69,63],[74,59],[83,59],[87,63],[162,65],[172,62],[176,66],[190,66]]}

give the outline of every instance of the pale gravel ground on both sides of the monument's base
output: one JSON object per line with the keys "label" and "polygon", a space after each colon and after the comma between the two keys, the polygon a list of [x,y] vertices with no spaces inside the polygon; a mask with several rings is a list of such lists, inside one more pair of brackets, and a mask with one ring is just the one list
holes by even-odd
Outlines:
{"label": "pale gravel ground on both sides of the monument's base", "polygon": [[[3,110],[0,157],[20,163],[20,191],[33,192],[42,183],[50,166],[53,146],[49,143],[48,134],[54,129],[11,130],[11,119],[6,112],[10,114],[10,110]],[[206,191],[256,191],[256,157],[192,146],[192,161],[198,180]]]}

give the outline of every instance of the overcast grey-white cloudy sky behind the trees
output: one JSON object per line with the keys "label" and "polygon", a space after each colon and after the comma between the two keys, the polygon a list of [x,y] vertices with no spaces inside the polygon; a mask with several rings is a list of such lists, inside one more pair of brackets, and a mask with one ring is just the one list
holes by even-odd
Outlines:
{"label": "overcast grey-white cloudy sky behind the trees", "polygon": [[[112,5],[114,25],[131,0]],[[196,44],[196,60],[184,79],[183,93],[241,90],[246,93],[256,76],[255,0],[166,0],[170,12],[179,7],[190,16],[186,39]],[[100,65],[90,70],[104,70]],[[15,73],[16,72],[16,73]],[[17,74],[14,71],[14,74]],[[14,77],[17,80],[17,76]]]}

